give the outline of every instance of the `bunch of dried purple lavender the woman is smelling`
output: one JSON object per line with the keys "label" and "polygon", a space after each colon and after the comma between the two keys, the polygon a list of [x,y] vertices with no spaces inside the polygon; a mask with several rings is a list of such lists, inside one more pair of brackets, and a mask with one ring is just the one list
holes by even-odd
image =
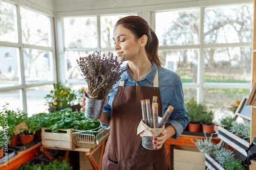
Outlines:
{"label": "bunch of dried purple lavender the woman is smelling", "polygon": [[[124,60],[124,58],[123,58]],[[88,94],[92,99],[103,100],[111,92],[112,87],[121,78],[126,67],[120,68],[122,62],[117,56],[109,53],[108,57],[101,58],[99,52],[94,52],[87,57],[80,57],[77,63],[82,71],[82,77],[88,84]]]}

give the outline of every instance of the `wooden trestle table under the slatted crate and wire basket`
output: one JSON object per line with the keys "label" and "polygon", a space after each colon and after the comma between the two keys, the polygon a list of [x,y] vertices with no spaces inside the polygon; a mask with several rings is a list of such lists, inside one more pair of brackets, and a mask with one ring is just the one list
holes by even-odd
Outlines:
{"label": "wooden trestle table under the slatted crate and wire basket", "polygon": [[[105,143],[106,140],[104,140],[101,144],[97,145],[96,148],[94,149],[89,149],[89,148],[79,148],[76,147],[74,149],[62,149],[62,148],[50,148],[50,147],[40,147],[40,151],[42,153],[44,153],[49,160],[54,161],[55,159],[53,158],[53,156],[50,154],[50,152],[48,151],[48,149],[52,149],[52,150],[64,150],[65,151],[65,156],[64,159],[68,160],[69,157],[69,152],[70,151],[78,151],[78,152],[86,152],[86,156],[89,160],[89,162],[91,163],[91,165],[93,166],[93,169],[95,170],[99,170],[101,169],[101,163],[102,163],[102,156],[104,153],[104,148],[105,148]],[[93,154],[95,153],[95,151],[97,151],[100,148],[100,154],[99,154],[99,161],[98,164],[95,162],[94,158],[93,158]]]}

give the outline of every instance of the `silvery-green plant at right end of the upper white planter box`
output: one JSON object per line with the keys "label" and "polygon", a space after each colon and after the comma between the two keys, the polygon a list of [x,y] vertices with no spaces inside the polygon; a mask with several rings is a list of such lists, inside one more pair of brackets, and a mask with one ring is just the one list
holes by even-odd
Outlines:
{"label": "silvery-green plant at right end of the upper white planter box", "polygon": [[246,139],[250,139],[250,124],[249,123],[238,123],[236,121],[231,123],[232,126],[230,131],[238,136],[245,137]]}

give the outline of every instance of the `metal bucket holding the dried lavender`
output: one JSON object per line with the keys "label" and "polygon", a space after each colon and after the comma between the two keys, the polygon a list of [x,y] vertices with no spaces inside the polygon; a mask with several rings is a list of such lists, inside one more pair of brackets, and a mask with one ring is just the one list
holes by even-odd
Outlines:
{"label": "metal bucket holding the dried lavender", "polygon": [[84,108],[86,110],[84,110],[84,117],[87,117],[90,119],[100,118],[105,100],[104,99],[103,100],[95,100],[95,99],[88,98],[87,95],[85,95],[85,96],[86,96],[86,101],[85,101],[86,105],[84,106]]}

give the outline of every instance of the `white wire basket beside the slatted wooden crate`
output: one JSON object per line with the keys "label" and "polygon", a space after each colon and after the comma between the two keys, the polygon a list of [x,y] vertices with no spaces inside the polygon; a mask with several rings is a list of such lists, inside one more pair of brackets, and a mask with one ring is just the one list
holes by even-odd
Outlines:
{"label": "white wire basket beside the slatted wooden crate", "polygon": [[72,131],[75,134],[77,147],[91,149],[102,143],[110,134],[110,130],[105,130],[102,127],[86,131],[72,129]]}

